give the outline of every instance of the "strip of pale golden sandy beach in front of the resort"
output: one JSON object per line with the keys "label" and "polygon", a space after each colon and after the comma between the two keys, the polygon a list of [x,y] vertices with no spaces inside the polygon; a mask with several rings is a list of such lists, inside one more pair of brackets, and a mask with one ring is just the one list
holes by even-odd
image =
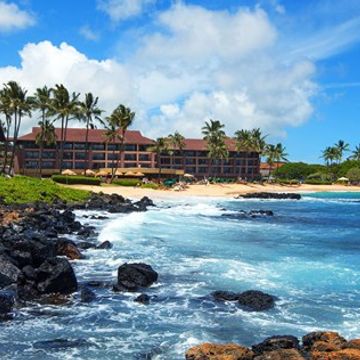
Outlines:
{"label": "strip of pale golden sandy beach in front of the resort", "polygon": [[77,189],[89,190],[93,192],[103,192],[106,194],[120,194],[129,198],[141,198],[148,196],[150,198],[166,198],[166,197],[187,197],[187,196],[204,196],[204,197],[228,197],[232,198],[239,194],[250,192],[337,192],[352,191],[360,192],[360,186],[344,186],[344,185],[298,185],[285,186],[276,184],[211,184],[211,185],[189,185],[184,191],[169,190],[153,190],[142,189],[138,187],[124,187],[114,185],[90,186],[90,185],[71,185]]}

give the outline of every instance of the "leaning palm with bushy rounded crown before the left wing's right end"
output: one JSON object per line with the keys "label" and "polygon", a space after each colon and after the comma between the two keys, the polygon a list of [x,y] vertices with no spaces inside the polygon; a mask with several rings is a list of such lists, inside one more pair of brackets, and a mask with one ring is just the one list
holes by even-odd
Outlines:
{"label": "leaning palm with bushy rounded crown before the left wing's right end", "polygon": [[[135,119],[135,112],[131,111],[130,108],[119,105],[110,115],[110,123],[120,132],[120,149],[119,156],[116,161],[116,169],[119,167],[119,162],[124,152],[125,135],[128,128],[132,125]],[[115,172],[112,171],[111,182],[114,180]]]}

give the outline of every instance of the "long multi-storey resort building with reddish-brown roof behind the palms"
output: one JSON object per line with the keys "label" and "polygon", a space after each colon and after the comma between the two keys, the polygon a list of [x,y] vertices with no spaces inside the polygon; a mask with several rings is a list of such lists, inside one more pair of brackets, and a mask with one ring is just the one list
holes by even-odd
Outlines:
{"label": "long multi-storey resort building with reddish-brown roof behind the palms", "polygon": [[[18,169],[16,172],[24,175],[36,175],[39,169],[40,149],[36,144],[36,135],[40,129],[34,127],[32,131],[18,139],[17,153]],[[61,138],[61,129],[55,130],[56,137]],[[128,130],[124,139],[124,151],[118,159],[120,140],[107,142],[105,130],[91,129],[88,135],[89,152],[86,152],[86,129],[69,128],[66,143],[63,145],[63,169],[71,169],[81,173],[85,168],[111,169],[117,167],[119,171],[140,171],[144,174],[158,174],[159,167],[163,175],[181,175],[189,173],[195,177],[241,177],[253,179],[259,176],[259,154],[253,152],[237,152],[235,142],[226,140],[229,157],[210,163],[207,144],[202,139],[186,139],[182,151],[174,149],[162,154],[160,159],[150,147],[153,140],[141,134],[140,131]],[[42,151],[42,173],[51,175],[60,169],[60,143],[47,146]]]}

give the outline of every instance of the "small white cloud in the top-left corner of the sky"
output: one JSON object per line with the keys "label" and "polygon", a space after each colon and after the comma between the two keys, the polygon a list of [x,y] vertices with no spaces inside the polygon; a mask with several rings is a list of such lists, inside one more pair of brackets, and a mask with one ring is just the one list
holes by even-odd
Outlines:
{"label": "small white cloud in the top-left corner of the sky", "polygon": [[0,1],[0,32],[24,29],[34,24],[34,17],[16,4]]}

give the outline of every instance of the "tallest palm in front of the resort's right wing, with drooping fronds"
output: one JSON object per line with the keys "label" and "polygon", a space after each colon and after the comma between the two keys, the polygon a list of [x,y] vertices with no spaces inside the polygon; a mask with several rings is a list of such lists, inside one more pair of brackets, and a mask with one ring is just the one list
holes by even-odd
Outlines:
{"label": "tallest palm in front of the resort's right wing, with drooping fronds", "polygon": [[213,163],[215,161],[224,160],[229,156],[227,146],[225,144],[225,132],[223,128],[224,124],[221,124],[219,120],[211,120],[210,122],[205,122],[205,125],[202,128],[202,133],[204,135],[204,140],[207,142],[208,148],[208,157],[209,161],[209,175],[213,168]]}

